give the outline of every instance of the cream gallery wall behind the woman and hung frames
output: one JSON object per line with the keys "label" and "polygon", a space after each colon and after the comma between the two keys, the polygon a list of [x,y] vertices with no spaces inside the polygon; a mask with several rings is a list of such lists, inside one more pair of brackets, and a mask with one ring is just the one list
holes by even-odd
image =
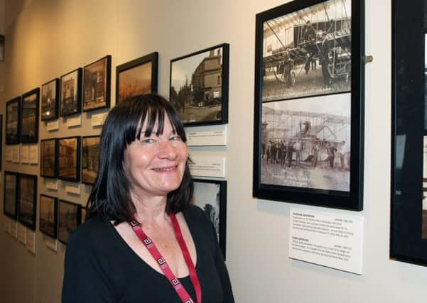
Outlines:
{"label": "cream gallery wall behind the woman and hung frames", "polygon": [[[170,60],[229,43],[229,126],[227,147],[192,148],[193,153],[227,157],[227,266],[237,302],[426,302],[427,268],[389,260],[391,136],[391,1],[365,0],[366,66],[364,148],[363,275],[353,275],[288,258],[289,208],[252,197],[255,15],[283,4],[277,0],[33,0],[5,28],[6,62],[0,113],[6,101],[40,87],[104,55],[115,66],[153,51],[159,53],[159,92],[168,97]],[[1,85],[0,85],[1,87]],[[94,113],[102,112],[95,111]],[[90,126],[39,138],[98,134]],[[3,129],[5,123],[3,123]],[[4,135],[4,131],[3,131]],[[4,160],[2,171],[38,175],[38,165]],[[4,175],[2,174],[2,182]],[[85,204],[90,186],[67,194],[66,182],[49,192],[38,178],[38,194]],[[3,204],[3,187],[0,199]],[[307,209],[315,207],[301,206]],[[334,210],[335,211],[335,210]],[[337,211],[353,214],[351,211]],[[4,232],[0,215],[0,302],[58,303],[65,246],[54,252],[36,232],[36,255]],[[82,248],[85,249],[85,248]]]}

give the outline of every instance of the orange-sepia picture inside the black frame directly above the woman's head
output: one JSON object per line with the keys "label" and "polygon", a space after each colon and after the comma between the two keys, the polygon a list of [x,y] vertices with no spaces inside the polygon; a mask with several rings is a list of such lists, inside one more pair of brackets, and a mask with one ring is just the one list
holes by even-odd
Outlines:
{"label": "orange-sepia picture inside the black frame directly above the woman's head", "polygon": [[151,61],[119,74],[119,102],[140,94],[151,93]]}

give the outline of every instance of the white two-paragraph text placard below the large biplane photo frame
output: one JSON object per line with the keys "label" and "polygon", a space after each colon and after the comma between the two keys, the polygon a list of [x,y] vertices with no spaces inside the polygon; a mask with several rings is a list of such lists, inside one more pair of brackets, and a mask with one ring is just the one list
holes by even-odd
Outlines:
{"label": "white two-paragraph text placard below the large biplane photo frame", "polygon": [[363,216],[291,208],[289,258],[362,275]]}

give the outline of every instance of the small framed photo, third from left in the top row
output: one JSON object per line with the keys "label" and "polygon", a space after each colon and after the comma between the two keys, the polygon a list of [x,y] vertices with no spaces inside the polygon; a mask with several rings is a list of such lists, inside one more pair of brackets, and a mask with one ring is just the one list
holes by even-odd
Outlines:
{"label": "small framed photo, third from left in the top row", "polygon": [[41,86],[41,121],[58,119],[59,79],[53,79]]}

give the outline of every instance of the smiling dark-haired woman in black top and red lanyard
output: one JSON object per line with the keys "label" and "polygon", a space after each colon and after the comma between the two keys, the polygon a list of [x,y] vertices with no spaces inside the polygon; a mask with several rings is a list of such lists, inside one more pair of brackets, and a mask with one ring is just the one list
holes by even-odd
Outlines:
{"label": "smiling dark-haired woman in black top and red lanyard", "polygon": [[157,95],[109,112],[89,218],[67,243],[63,303],[234,302],[215,230],[189,205],[185,142]]}

